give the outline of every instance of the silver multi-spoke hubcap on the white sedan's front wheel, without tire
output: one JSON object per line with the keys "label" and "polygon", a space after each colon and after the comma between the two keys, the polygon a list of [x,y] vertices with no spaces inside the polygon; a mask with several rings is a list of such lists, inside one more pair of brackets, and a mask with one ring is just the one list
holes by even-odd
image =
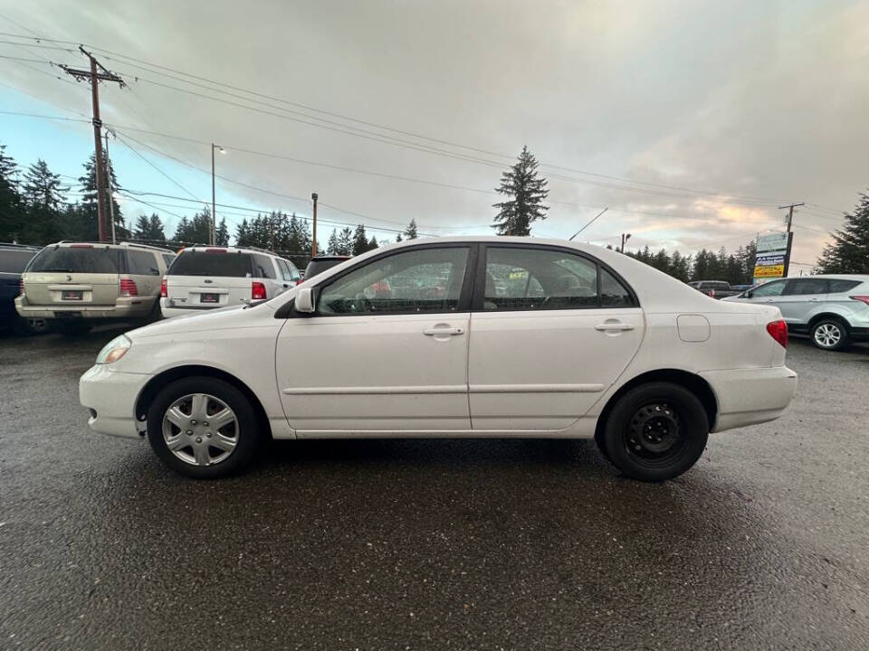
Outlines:
{"label": "silver multi-spoke hubcap on the white sedan's front wheel, without tire", "polygon": [[163,415],[166,447],[191,466],[214,466],[224,461],[238,444],[238,434],[235,412],[208,393],[178,398]]}

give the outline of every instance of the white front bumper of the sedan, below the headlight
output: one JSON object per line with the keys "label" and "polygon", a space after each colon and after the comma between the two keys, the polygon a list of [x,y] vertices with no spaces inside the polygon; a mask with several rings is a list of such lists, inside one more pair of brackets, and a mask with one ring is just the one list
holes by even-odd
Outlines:
{"label": "white front bumper of the sedan, below the headlight", "polygon": [[136,420],[136,400],[151,376],[119,373],[110,364],[94,364],[79,380],[79,401],[91,410],[88,425],[112,436],[139,438],[144,423]]}

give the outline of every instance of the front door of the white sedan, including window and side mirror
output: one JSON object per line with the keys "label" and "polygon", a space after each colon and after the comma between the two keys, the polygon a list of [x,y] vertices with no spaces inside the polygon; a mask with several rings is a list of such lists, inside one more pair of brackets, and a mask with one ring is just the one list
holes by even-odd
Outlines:
{"label": "front door of the white sedan, including window and side mirror", "polygon": [[475,246],[421,245],[314,286],[291,314],[275,370],[300,437],[471,429],[468,325]]}

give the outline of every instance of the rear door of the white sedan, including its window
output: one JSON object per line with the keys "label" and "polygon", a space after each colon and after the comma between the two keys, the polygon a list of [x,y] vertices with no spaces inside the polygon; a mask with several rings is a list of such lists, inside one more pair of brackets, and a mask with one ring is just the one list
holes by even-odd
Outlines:
{"label": "rear door of the white sedan, including its window", "polygon": [[488,244],[476,277],[468,354],[474,430],[567,428],[643,339],[634,293],[576,250]]}

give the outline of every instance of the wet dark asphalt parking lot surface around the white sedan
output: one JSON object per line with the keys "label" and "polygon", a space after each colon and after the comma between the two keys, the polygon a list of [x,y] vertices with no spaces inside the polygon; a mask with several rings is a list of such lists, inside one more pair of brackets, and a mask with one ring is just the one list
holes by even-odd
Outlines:
{"label": "wet dark asphalt parking lot surface around the white sedan", "polygon": [[663,485],[590,441],[274,445],[170,475],[93,434],[114,331],[0,339],[0,648],[869,648],[869,348]]}

